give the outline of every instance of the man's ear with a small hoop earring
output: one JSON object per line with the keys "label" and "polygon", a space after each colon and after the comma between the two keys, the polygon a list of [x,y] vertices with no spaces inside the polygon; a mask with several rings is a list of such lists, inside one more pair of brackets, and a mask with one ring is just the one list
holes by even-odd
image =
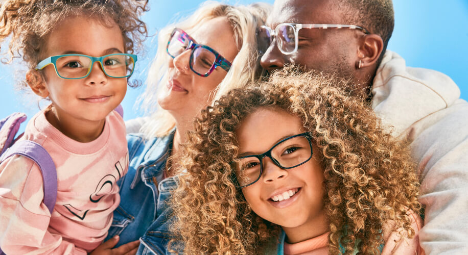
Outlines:
{"label": "man's ear with a small hoop earring", "polygon": [[361,47],[359,47],[359,59],[358,63],[356,63],[356,67],[359,69],[376,64],[377,60],[379,60],[383,48],[384,41],[379,35],[365,35],[361,43]]}

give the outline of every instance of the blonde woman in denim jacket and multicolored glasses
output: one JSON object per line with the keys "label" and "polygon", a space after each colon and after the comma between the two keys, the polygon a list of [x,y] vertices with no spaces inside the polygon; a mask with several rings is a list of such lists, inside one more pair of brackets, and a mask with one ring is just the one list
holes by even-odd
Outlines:
{"label": "blonde woman in denim jacket and multicolored glasses", "polygon": [[[255,30],[269,5],[206,2],[192,16],[159,34],[143,105],[151,112],[141,134],[128,135],[129,170],[109,237],[117,246],[139,238],[137,254],[165,254],[171,239],[166,201],[177,187],[176,158],[201,109],[231,88],[259,77]],[[116,240],[114,240],[116,242]]]}

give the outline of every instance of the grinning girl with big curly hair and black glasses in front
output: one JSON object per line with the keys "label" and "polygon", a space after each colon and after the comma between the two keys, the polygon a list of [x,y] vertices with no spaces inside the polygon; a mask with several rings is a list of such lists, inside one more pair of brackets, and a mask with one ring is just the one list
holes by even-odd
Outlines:
{"label": "grinning girl with big curly hair and black glasses in front", "polygon": [[346,87],[287,69],[203,111],[172,200],[184,253],[424,252],[406,142]]}

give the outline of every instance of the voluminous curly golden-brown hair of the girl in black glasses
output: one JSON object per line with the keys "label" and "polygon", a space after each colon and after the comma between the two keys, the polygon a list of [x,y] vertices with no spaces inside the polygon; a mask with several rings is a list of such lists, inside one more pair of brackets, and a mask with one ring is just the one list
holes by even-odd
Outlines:
{"label": "voluminous curly golden-brown hair of the girl in black glasses", "polygon": [[[393,138],[346,81],[287,68],[268,81],[231,90],[203,110],[189,133],[179,188],[171,206],[188,254],[255,254],[279,227],[257,216],[233,181],[236,130],[259,108],[301,118],[322,154],[329,251],[379,253],[383,224],[412,238],[409,210],[418,212],[418,183],[407,141]],[[348,91],[348,92],[343,92]],[[360,240],[360,242],[358,241]],[[275,239],[276,241],[276,239]]]}

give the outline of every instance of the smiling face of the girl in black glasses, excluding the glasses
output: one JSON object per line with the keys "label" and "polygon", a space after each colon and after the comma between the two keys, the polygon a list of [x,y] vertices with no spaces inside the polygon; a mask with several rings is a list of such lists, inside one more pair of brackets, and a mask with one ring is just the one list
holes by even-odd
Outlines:
{"label": "smiling face of the girl in black glasses, excluding the glasses", "polygon": [[[302,126],[299,117],[284,110],[260,108],[247,116],[236,132],[239,152],[262,154],[278,141],[303,133]],[[289,148],[296,147],[287,147],[285,154]],[[260,179],[242,188],[253,212],[282,226],[292,242],[328,231],[323,211],[323,169],[319,163],[320,151],[313,140],[312,150],[310,160],[291,169],[278,167],[270,158],[263,158]],[[297,233],[300,235],[296,237]]]}

